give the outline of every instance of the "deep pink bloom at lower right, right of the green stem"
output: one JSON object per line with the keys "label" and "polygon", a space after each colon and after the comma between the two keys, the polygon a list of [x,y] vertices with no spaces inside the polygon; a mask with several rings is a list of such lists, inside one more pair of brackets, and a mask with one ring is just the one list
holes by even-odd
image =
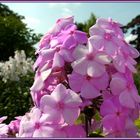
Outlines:
{"label": "deep pink bloom at lower right, right of the green stem", "polygon": [[127,108],[120,104],[117,96],[104,100],[100,107],[100,113],[103,116],[102,124],[106,131],[117,132],[125,130],[129,112]]}

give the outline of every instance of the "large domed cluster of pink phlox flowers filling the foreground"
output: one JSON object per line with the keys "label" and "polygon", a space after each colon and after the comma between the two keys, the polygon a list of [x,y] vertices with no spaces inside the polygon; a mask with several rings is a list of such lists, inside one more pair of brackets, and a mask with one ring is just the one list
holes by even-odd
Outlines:
{"label": "large domed cluster of pink phlox flowers filling the foreground", "polygon": [[[140,96],[134,84],[139,52],[121,24],[97,19],[90,36],[73,17],[59,19],[40,41],[31,90],[34,107],[9,129],[17,137],[87,137],[99,127],[105,137],[137,137]],[[89,108],[100,115],[77,123]],[[86,116],[87,117],[87,116]]]}

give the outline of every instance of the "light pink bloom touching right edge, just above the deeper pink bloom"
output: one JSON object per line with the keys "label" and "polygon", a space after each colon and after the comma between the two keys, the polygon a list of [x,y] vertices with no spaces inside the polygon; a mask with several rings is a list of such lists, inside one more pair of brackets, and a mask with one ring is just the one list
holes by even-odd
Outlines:
{"label": "light pink bloom touching right edge, just above the deeper pink bloom", "polygon": [[134,109],[136,104],[140,103],[140,96],[129,72],[126,73],[126,76],[120,73],[114,74],[110,88],[113,95],[119,95],[120,103],[123,106]]}

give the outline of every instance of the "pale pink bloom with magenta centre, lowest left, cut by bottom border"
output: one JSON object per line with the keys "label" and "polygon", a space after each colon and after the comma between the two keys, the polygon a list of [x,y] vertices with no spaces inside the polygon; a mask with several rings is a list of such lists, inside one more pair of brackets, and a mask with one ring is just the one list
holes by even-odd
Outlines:
{"label": "pale pink bloom with magenta centre, lowest left, cut by bottom border", "polygon": [[18,137],[52,137],[59,125],[51,125],[50,122],[52,122],[50,116],[34,107],[30,113],[22,117]]}

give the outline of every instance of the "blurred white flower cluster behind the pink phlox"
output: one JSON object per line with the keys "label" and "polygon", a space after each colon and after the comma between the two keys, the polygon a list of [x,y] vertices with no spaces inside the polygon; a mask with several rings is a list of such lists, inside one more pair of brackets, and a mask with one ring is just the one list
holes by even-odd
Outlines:
{"label": "blurred white flower cluster behind the pink phlox", "polygon": [[31,58],[26,58],[23,50],[15,51],[14,58],[9,57],[9,61],[0,62],[0,76],[2,77],[2,81],[18,81],[20,76],[25,76],[28,72],[33,72],[33,63]]}

